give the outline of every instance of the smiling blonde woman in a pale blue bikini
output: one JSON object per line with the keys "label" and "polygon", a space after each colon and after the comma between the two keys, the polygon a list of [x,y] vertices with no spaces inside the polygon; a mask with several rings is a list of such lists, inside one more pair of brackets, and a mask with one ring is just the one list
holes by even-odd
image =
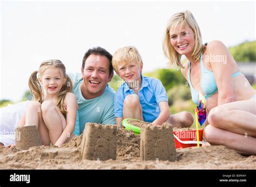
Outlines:
{"label": "smiling blonde woman in a pale blue bikini", "polygon": [[[207,101],[206,140],[256,155],[256,92],[226,46],[221,41],[203,45],[197,21],[184,11],[169,20],[163,50],[170,64],[181,68],[193,102],[198,105],[200,95]],[[188,59],[184,64],[181,55]]]}

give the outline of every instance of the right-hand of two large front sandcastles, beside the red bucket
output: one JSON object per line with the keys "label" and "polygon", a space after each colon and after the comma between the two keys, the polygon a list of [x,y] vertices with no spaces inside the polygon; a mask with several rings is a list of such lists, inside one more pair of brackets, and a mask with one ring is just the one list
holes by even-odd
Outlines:
{"label": "right-hand of two large front sandcastles, beside the red bucket", "polygon": [[172,125],[143,125],[140,133],[140,160],[176,161]]}

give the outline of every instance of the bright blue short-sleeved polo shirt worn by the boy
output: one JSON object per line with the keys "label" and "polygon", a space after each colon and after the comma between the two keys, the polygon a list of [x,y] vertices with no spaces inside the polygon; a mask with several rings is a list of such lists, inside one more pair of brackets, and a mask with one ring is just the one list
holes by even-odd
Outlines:
{"label": "bright blue short-sleeved polo shirt worn by the boy", "polygon": [[[160,102],[168,102],[163,84],[156,78],[142,76],[142,86],[138,92],[139,102],[142,105],[144,121],[152,123],[160,114]],[[123,117],[124,99],[127,95],[136,94],[124,82],[114,96],[114,117]]]}

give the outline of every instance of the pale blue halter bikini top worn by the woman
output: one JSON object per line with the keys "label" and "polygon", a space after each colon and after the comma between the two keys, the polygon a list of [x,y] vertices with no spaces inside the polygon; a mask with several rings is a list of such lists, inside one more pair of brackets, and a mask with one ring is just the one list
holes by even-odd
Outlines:
{"label": "pale blue halter bikini top worn by the woman", "polygon": [[[190,62],[189,69],[188,69],[188,83],[190,84],[190,90],[192,95],[192,100],[197,105],[199,104],[199,93],[197,90],[194,89],[191,80],[190,80]],[[214,78],[213,71],[210,71],[204,67],[203,63],[203,55],[201,53],[201,59],[200,59],[200,68],[201,68],[201,88],[203,89],[205,93],[205,99],[211,97],[214,93],[218,91],[216,81]],[[241,74],[241,71],[238,71],[232,75],[232,77],[236,77]]]}

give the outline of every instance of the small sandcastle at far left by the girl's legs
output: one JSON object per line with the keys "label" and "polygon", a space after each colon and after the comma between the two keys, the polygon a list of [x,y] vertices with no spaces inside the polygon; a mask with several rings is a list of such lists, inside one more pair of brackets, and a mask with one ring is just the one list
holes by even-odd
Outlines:
{"label": "small sandcastle at far left by the girl's legs", "polygon": [[35,125],[19,127],[15,131],[15,146],[20,149],[29,149],[41,146],[41,139]]}

